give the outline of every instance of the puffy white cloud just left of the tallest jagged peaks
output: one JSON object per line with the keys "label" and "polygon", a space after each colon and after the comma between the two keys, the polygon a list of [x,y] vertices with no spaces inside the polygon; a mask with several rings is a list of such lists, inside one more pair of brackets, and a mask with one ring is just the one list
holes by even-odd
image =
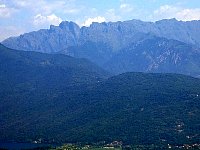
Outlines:
{"label": "puffy white cloud just left of the tallest jagged peaks", "polygon": [[43,26],[43,25],[58,25],[62,22],[62,19],[55,14],[43,16],[38,14],[34,16],[33,24],[35,26]]}

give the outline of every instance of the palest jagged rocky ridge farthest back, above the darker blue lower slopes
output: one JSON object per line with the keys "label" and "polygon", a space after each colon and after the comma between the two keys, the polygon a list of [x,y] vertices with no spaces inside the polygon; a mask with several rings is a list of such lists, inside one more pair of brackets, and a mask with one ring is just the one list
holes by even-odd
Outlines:
{"label": "palest jagged rocky ridge farthest back, above the darker blue lower slopes", "polygon": [[137,41],[138,33],[148,33],[200,46],[199,29],[200,21],[182,22],[175,19],[155,23],[139,20],[93,23],[90,27],[82,28],[73,22],[62,22],[59,26],[52,25],[48,30],[26,33],[2,43],[13,49],[52,53],[67,51],[70,46],[91,41],[106,43],[116,51]]}

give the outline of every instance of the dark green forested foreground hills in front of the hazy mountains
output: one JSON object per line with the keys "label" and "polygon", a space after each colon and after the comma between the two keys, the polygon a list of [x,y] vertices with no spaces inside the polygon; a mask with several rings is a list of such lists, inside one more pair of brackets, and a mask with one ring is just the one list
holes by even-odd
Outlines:
{"label": "dark green forested foreground hills in front of the hazy mountains", "polygon": [[0,45],[0,141],[194,144],[200,80],[178,74],[112,76],[61,54]]}

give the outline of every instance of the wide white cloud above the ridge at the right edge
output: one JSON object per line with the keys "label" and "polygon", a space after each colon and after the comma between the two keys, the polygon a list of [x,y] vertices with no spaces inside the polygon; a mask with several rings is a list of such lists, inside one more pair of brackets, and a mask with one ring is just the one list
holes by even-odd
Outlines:
{"label": "wide white cloud above the ridge at the right edge", "polygon": [[153,20],[176,18],[182,21],[200,20],[200,8],[185,9],[181,7],[164,5],[155,10]]}

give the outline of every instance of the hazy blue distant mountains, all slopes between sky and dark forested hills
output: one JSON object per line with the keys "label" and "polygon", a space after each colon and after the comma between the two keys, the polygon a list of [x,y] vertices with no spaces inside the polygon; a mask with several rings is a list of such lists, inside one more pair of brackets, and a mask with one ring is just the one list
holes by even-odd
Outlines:
{"label": "hazy blue distant mountains, all slopes between sky and dark forested hills", "polygon": [[80,28],[62,22],[2,43],[10,48],[87,58],[113,73],[172,72],[200,75],[200,21],[131,20]]}

